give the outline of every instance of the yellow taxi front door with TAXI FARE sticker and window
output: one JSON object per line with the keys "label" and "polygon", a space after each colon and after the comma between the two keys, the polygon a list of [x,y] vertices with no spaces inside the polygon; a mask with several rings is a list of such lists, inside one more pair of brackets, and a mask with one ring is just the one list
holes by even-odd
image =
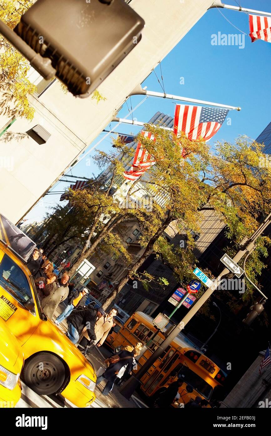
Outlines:
{"label": "yellow taxi front door with TAXI FARE sticker and window", "polygon": [[[0,317],[23,345],[40,323],[30,279],[9,250],[0,251]],[[23,265],[23,264],[22,264]],[[31,307],[28,310],[25,306]]]}

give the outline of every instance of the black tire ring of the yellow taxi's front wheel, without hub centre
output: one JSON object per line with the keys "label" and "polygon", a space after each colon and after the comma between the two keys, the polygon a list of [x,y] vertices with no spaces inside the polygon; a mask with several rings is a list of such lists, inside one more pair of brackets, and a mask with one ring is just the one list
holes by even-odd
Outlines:
{"label": "black tire ring of the yellow taxi's front wheel, without hub centre", "polygon": [[[46,362],[53,371],[57,373],[57,379],[53,386],[37,386],[33,383],[31,375],[35,372],[38,364]],[[23,367],[22,373],[25,384],[38,395],[50,395],[60,391],[66,378],[64,364],[61,360],[50,353],[38,353],[32,358],[28,358]]]}

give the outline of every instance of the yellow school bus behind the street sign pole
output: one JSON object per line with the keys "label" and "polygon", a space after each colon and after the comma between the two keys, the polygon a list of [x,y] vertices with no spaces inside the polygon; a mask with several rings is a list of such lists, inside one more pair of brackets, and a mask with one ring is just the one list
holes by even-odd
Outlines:
{"label": "yellow school bus behind the street sign pole", "polygon": [[[125,347],[142,342],[145,347],[138,359],[138,369],[165,339],[164,333],[159,332],[151,340],[157,331],[152,320],[145,313],[135,312],[120,329],[112,344],[113,347]],[[201,351],[192,347],[188,340],[186,342],[183,335],[182,337],[176,337],[141,378],[141,389],[149,397],[157,395],[163,387],[181,378],[184,383],[179,389],[180,399],[174,403],[174,407],[181,407],[196,396],[209,401],[214,390],[222,387],[225,381],[225,373]]]}

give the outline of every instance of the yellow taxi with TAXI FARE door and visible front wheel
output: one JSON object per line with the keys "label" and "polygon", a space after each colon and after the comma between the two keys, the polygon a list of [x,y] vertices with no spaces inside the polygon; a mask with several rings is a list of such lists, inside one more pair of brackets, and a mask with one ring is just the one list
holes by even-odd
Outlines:
{"label": "yellow taxi with TAXI FARE door and visible front wheel", "polygon": [[0,318],[20,344],[25,359],[22,379],[34,392],[61,393],[77,407],[87,407],[95,400],[93,366],[47,320],[29,269],[3,238],[0,239]]}

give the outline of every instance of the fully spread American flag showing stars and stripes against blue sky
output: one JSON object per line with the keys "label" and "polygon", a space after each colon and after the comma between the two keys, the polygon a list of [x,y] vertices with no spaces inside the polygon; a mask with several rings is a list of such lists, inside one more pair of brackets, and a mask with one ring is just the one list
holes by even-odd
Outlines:
{"label": "fully spread American flag showing stars and stripes against blue sky", "polygon": [[176,105],[174,134],[184,132],[189,140],[202,137],[207,141],[217,133],[228,112],[229,109]]}

